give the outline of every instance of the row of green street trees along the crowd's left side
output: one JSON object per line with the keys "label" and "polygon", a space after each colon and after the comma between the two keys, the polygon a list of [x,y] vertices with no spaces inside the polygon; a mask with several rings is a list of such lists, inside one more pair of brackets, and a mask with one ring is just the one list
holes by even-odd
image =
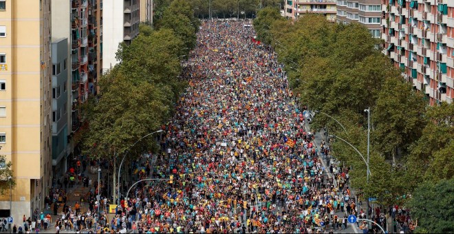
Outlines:
{"label": "row of green street trees along the crowd's left side", "polygon": [[179,78],[181,61],[195,46],[198,26],[190,5],[173,1],[154,27],[140,25],[140,34],[130,45],[120,44],[118,65],[100,78],[100,95],[83,106],[87,123],[80,139],[83,153],[110,160],[113,184],[118,158],[157,148],[154,140],[142,140],[133,149],[131,145],[160,129],[175,111],[186,85]]}

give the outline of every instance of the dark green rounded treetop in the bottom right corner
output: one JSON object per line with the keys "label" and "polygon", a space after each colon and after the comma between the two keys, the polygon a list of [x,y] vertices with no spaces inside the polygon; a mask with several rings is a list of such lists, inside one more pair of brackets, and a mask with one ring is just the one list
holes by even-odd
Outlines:
{"label": "dark green rounded treetop in the bottom right corner", "polygon": [[421,183],[407,203],[413,220],[418,220],[418,228],[415,231],[453,233],[453,204],[454,178],[443,179],[437,183]]}

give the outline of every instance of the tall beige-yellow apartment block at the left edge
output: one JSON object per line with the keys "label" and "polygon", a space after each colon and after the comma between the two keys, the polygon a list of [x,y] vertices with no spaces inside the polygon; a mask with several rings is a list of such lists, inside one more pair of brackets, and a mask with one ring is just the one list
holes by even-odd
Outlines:
{"label": "tall beige-yellow apartment block at the left edge", "polygon": [[51,187],[50,34],[50,1],[0,1],[0,153],[17,182],[0,210],[14,222],[43,209]]}

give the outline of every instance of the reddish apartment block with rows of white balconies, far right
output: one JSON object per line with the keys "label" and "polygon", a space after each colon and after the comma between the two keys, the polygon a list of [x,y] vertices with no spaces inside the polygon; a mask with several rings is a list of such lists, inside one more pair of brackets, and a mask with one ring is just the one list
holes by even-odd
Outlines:
{"label": "reddish apartment block with rows of white balconies, far right", "polygon": [[383,0],[385,50],[430,105],[454,98],[454,1]]}

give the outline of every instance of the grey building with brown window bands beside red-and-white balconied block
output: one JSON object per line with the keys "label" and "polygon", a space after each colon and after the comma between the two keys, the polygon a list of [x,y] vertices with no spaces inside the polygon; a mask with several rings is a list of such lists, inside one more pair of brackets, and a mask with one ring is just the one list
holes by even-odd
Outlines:
{"label": "grey building with brown window bands beside red-and-white balconied block", "polygon": [[337,0],[338,23],[362,23],[375,38],[381,37],[382,0]]}

